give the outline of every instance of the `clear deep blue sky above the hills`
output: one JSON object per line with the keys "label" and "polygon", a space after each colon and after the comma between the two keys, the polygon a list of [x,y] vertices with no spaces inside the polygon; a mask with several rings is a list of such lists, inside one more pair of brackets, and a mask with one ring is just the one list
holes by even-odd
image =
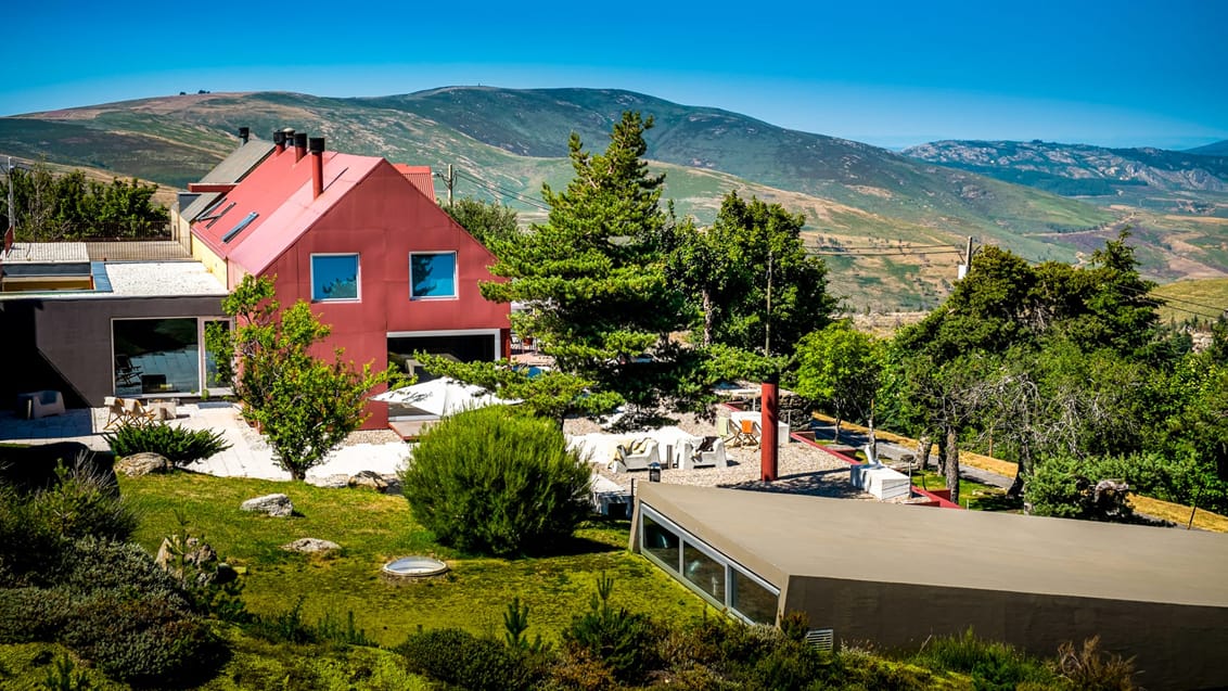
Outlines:
{"label": "clear deep blue sky above the hills", "polygon": [[200,88],[481,83],[628,88],[882,146],[1228,139],[1224,0],[36,0],[0,10],[0,115]]}

